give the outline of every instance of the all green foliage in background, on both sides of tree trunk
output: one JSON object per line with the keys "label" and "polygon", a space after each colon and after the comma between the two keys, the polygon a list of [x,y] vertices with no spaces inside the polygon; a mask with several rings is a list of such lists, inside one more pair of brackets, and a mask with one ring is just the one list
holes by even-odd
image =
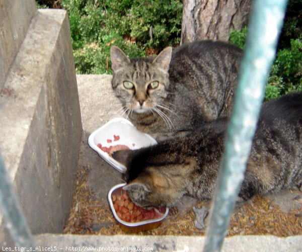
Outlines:
{"label": "all green foliage in background, on both sides of tree trunk", "polygon": [[[36,0],[38,8],[68,11],[77,73],[111,73],[110,47],[129,57],[145,56],[179,44],[181,0]],[[302,91],[302,2],[289,0],[265,99]],[[247,28],[230,33],[244,49]],[[149,50],[151,49],[151,50]]]}

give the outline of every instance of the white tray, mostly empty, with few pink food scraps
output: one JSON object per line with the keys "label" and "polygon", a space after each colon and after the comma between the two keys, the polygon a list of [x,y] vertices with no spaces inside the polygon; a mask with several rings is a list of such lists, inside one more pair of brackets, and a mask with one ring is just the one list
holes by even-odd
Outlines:
{"label": "white tray, mostly empty, with few pink food scraps", "polygon": [[139,149],[157,144],[157,141],[138,131],[128,120],[114,118],[94,131],[88,138],[88,144],[117,171],[125,173],[126,167],[113,159],[112,153],[121,149]]}

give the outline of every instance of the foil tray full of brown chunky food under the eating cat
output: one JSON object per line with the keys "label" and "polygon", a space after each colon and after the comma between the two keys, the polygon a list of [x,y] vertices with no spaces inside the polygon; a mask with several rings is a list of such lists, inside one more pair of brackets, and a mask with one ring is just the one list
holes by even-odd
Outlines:
{"label": "foil tray full of brown chunky food under the eating cat", "polygon": [[126,233],[137,233],[157,228],[169,213],[168,207],[150,210],[136,206],[123,190],[126,183],[112,187],[108,193],[108,201],[113,216],[120,228]]}

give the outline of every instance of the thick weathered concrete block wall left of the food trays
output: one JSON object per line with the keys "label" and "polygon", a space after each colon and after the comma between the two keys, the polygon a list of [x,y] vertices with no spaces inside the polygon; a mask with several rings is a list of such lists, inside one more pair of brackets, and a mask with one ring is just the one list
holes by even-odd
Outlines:
{"label": "thick weathered concrete block wall left of the food trays", "polygon": [[0,94],[0,118],[1,152],[31,231],[61,232],[83,132],[65,11],[33,18]]}

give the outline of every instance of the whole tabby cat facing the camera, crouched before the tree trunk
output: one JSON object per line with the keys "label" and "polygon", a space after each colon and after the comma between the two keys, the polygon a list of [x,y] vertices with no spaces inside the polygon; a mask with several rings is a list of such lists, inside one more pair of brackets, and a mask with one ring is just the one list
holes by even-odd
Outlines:
{"label": "whole tabby cat facing the camera, crouched before the tree trunk", "polygon": [[156,58],[129,59],[112,46],[112,88],[136,128],[162,140],[230,114],[241,56],[213,41],[168,47]]}

